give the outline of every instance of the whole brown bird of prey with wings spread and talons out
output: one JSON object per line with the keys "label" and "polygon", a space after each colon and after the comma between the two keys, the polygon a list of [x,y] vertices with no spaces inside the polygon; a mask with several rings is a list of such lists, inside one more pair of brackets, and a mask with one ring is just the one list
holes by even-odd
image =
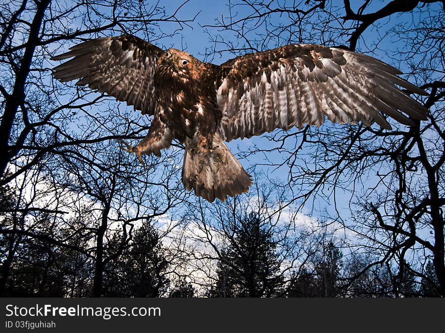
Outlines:
{"label": "whole brown bird of prey with wings spread and talons out", "polygon": [[384,114],[414,125],[427,110],[407,91],[425,91],[370,56],[316,44],[289,44],[245,54],[222,65],[159,47],[133,35],[87,40],[52,60],[62,81],[105,92],[154,116],[136,154],[161,155],[173,139],[185,146],[182,181],[209,202],[249,191],[251,176],[224,141],[276,128],[376,122],[391,129]]}

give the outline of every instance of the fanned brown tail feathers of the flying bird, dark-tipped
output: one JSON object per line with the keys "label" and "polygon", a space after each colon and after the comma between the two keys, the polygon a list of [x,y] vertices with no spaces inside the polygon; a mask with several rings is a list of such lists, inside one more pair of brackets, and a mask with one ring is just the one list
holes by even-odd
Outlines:
{"label": "fanned brown tail feathers of the flying bird, dark-tipped", "polygon": [[215,198],[226,201],[249,191],[250,175],[227,148],[219,135],[213,137],[213,150],[196,151],[196,145],[186,145],[183,165],[184,186],[195,195],[213,202]]}

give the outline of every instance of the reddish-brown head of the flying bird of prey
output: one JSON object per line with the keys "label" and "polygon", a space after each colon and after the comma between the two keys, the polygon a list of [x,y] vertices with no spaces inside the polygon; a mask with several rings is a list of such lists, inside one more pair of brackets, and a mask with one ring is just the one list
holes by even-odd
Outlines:
{"label": "reddish-brown head of the flying bird of prey", "polygon": [[187,83],[186,81],[197,78],[200,65],[201,62],[189,53],[168,49],[158,59],[157,68],[161,76],[168,75]]}

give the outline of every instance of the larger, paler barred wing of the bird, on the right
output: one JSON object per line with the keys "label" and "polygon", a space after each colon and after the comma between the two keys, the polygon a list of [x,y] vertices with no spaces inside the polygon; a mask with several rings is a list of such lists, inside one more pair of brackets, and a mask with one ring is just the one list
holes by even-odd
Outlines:
{"label": "larger, paler barred wing of the bird, on the right", "polygon": [[[372,57],[326,46],[290,44],[222,64],[217,100],[219,133],[225,140],[251,137],[275,128],[332,122],[391,126],[379,113],[412,125],[427,110],[396,86],[425,92],[400,72]],[[404,112],[399,112],[398,110]]]}

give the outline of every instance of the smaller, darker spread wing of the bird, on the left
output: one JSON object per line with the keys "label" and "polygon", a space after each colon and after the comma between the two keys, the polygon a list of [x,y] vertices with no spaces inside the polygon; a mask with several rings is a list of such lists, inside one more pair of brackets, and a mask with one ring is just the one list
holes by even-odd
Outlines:
{"label": "smaller, darker spread wing of the bird, on the left", "polygon": [[106,92],[143,114],[153,115],[153,77],[157,59],[163,54],[159,47],[135,36],[122,35],[88,40],[70,50],[52,58],[74,57],[53,69],[55,78],[62,82],[79,79],[76,85]]}

